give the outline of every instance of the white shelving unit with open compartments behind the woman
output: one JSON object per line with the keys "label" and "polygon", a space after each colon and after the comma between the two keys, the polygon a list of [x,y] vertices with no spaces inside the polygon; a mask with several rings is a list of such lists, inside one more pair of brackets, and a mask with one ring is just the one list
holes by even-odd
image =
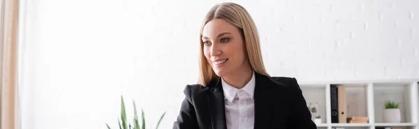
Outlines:
{"label": "white shelving unit with open compartments behind the woman", "polygon": [[[362,80],[333,82],[300,82],[302,94],[309,103],[318,103],[322,123],[319,129],[344,127],[346,129],[375,129],[376,127],[402,127],[419,129],[418,79]],[[332,123],[330,85],[346,86],[347,117],[368,117],[369,123]],[[385,101],[399,103],[401,123],[383,123]]]}

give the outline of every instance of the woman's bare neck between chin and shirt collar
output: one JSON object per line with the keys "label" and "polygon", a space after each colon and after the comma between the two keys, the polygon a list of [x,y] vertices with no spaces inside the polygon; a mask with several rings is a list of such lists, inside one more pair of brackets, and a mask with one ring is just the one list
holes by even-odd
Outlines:
{"label": "woman's bare neck between chin and shirt collar", "polygon": [[253,75],[253,70],[251,69],[249,63],[244,65],[242,69],[235,71],[231,74],[223,76],[223,80],[237,89],[242,89],[244,85],[249,83],[251,76]]}

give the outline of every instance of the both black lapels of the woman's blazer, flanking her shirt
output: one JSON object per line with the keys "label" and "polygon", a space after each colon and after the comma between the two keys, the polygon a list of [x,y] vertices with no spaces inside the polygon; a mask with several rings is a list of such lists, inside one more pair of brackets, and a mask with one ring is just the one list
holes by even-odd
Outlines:
{"label": "both black lapels of the woman's blazer, flanking her shirt", "polygon": [[[274,83],[272,83],[270,77],[260,75],[256,71],[254,74],[256,78],[254,128],[268,128],[268,123],[271,123],[270,120],[272,118],[272,97],[269,89]],[[212,81],[207,87],[210,88],[210,94],[207,94],[207,101],[212,128],[226,129],[226,109],[221,78]]]}

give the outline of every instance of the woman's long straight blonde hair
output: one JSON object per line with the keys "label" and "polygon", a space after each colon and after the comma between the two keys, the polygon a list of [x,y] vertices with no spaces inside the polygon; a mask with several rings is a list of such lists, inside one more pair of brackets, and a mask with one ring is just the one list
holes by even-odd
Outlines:
{"label": "woman's long straight blonde hair", "polygon": [[212,80],[218,80],[219,76],[214,73],[203,50],[203,28],[212,19],[224,19],[230,24],[237,26],[244,37],[245,50],[251,68],[258,74],[269,76],[263,65],[262,54],[260,53],[259,35],[253,19],[249,12],[237,3],[220,3],[212,7],[203,21],[200,28],[200,77],[198,84],[206,86]]}

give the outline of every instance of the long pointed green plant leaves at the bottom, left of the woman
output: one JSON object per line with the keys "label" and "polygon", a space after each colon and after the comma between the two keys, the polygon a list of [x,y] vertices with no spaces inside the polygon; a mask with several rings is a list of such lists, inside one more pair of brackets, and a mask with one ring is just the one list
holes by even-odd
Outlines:
{"label": "long pointed green plant leaves at the bottom, left of the woman", "polygon": [[[121,96],[121,119],[118,119],[118,125],[119,125],[119,129],[145,129],[145,117],[144,117],[144,111],[141,109],[141,120],[142,120],[142,128],[140,128],[140,124],[138,123],[138,116],[137,116],[137,107],[135,107],[135,102],[134,103],[134,121],[133,121],[133,126],[131,127],[131,123],[128,123],[126,121],[126,112],[125,112],[125,104],[124,104],[124,98]],[[163,119],[164,115],[166,114],[166,112],[164,112],[160,119],[159,122],[157,123],[156,129],[159,128],[161,119]],[[122,125],[121,125],[121,121],[122,121]],[[106,123],[106,127],[108,127],[108,129],[110,129],[108,123]]]}

